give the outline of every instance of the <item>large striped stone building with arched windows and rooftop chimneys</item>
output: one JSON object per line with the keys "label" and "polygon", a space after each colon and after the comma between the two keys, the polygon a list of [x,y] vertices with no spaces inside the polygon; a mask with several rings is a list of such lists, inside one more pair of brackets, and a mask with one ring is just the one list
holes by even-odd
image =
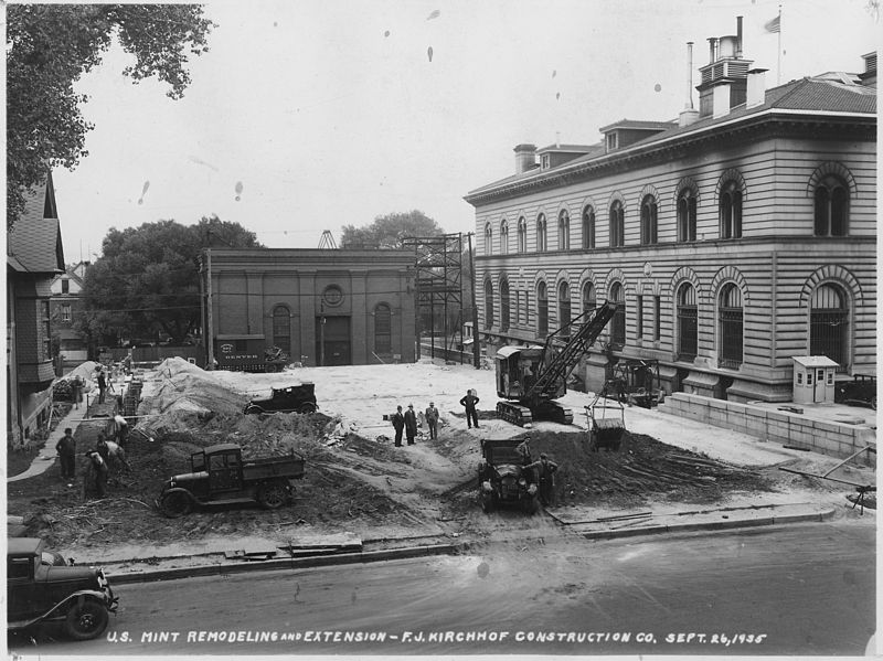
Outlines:
{"label": "large striped stone building with arched windows and rooftop chimneys", "polygon": [[874,373],[876,54],[767,89],[741,32],[709,40],[698,110],[519,145],[513,175],[466,195],[491,351],[611,299],[588,390],[623,358],[658,360],[668,392],[742,402],[790,399],[795,355]]}

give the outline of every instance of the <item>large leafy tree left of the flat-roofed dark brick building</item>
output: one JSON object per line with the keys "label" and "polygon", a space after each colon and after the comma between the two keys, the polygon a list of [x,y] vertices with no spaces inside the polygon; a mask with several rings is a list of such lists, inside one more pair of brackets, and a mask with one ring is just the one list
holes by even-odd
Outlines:
{"label": "large leafy tree left of the flat-roofed dark brick building", "polygon": [[93,341],[166,333],[172,342],[182,342],[200,326],[198,264],[210,242],[223,247],[262,247],[253,232],[217,216],[190,226],[159,221],[124,231],[110,228],[102,257],[86,271],[85,312],[77,320],[77,330]]}

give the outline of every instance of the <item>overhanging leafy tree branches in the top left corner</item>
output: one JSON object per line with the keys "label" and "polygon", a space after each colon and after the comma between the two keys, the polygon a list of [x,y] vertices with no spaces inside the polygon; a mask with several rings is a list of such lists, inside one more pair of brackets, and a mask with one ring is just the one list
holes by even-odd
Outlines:
{"label": "overhanging leafy tree branches in the top left corner", "polygon": [[74,83],[100,64],[114,39],[135,55],[123,74],[136,83],[153,75],[181,98],[190,84],[189,55],[208,52],[214,24],[198,4],[8,3],[7,228],[24,209],[24,192],[53,167],[73,169],[93,128]]}

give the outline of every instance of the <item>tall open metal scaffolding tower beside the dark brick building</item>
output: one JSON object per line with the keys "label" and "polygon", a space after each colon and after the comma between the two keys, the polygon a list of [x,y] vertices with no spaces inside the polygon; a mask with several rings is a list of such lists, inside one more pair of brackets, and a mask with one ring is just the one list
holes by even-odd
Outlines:
{"label": "tall open metal scaffolding tower beside the dark brick building", "polygon": [[[442,331],[443,347],[447,351],[455,344],[462,345],[462,234],[409,236],[404,239],[404,245],[414,249],[417,271],[417,358],[421,358],[424,330],[429,332],[430,356],[435,358],[437,330]],[[455,328],[450,329],[448,314],[455,310],[457,320]],[[462,351],[457,353],[462,362]]]}

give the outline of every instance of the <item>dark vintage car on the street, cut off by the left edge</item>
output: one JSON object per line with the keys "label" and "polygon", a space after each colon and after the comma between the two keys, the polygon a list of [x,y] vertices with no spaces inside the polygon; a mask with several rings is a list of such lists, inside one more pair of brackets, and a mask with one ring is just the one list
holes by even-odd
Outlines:
{"label": "dark vintage car on the street, cut off by the left edge", "polygon": [[7,541],[7,625],[10,631],[43,622],[58,622],[75,640],[104,633],[109,614],[116,612],[104,572],[65,561],[49,551],[43,540]]}

